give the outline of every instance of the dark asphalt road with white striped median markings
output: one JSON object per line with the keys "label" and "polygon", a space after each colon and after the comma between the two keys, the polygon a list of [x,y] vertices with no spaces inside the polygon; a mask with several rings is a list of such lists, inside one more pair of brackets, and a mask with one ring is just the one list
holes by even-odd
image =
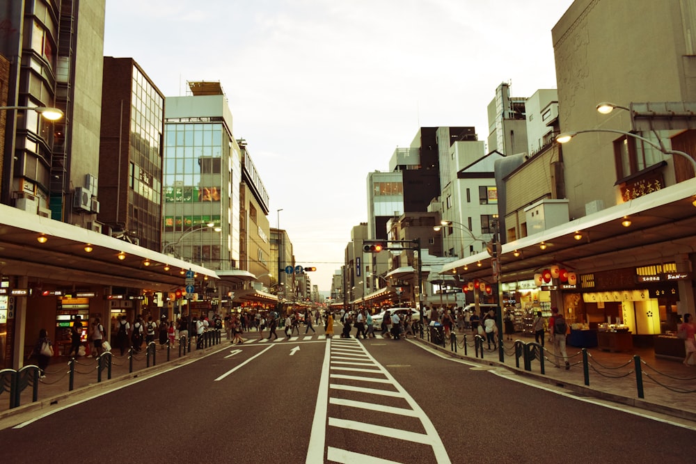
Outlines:
{"label": "dark asphalt road with white striped median markings", "polygon": [[223,346],[35,412],[0,430],[0,461],[693,460],[693,429],[513,381],[505,369],[404,340],[302,340]]}

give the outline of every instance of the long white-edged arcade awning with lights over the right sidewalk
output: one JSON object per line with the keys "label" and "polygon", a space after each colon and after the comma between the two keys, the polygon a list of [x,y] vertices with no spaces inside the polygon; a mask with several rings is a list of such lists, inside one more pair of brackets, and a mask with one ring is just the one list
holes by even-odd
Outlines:
{"label": "long white-edged arcade awning with lights over the right sidewalk", "polygon": [[[562,264],[576,272],[607,271],[695,253],[696,207],[692,204],[695,193],[696,179],[689,179],[505,243],[500,255],[501,280],[528,280],[535,271],[551,264]],[[630,226],[622,225],[624,218],[631,221]],[[546,245],[543,250],[542,242]],[[486,252],[443,266],[445,273],[453,269],[462,280],[495,280],[491,256]]]}

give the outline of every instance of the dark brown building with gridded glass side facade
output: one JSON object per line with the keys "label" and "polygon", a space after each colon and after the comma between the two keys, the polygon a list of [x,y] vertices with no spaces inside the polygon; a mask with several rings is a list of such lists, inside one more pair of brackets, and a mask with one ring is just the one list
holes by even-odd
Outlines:
{"label": "dark brown building with gridded glass side facade", "polygon": [[98,181],[98,223],[90,228],[104,225],[113,237],[159,251],[164,95],[132,58],[104,58],[104,88],[100,168],[109,174]]}

